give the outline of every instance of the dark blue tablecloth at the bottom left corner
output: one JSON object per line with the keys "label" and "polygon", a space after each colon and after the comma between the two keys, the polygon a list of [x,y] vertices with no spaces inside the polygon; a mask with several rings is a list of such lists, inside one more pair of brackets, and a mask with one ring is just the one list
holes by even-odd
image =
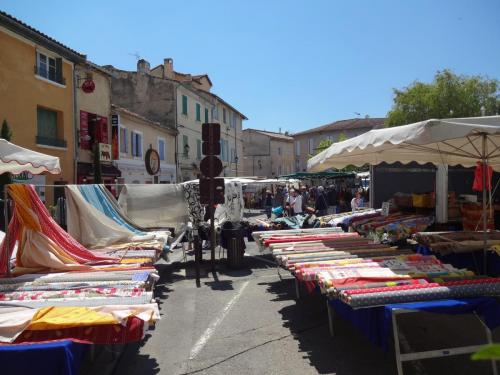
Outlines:
{"label": "dark blue tablecloth at the bottom left corner", "polygon": [[77,375],[88,346],[87,343],[73,340],[0,345],[0,373]]}

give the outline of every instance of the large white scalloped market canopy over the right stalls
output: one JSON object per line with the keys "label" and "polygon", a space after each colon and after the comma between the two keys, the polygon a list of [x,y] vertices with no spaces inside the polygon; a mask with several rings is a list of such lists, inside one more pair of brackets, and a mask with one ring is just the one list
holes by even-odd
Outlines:
{"label": "large white scalloped market canopy over the right stalls", "polygon": [[[489,165],[500,171],[500,116],[426,120],[410,125],[375,129],[334,143],[307,162],[310,172],[347,165],[386,163],[463,165],[481,159],[482,136],[488,137]],[[498,146],[497,146],[498,145]]]}

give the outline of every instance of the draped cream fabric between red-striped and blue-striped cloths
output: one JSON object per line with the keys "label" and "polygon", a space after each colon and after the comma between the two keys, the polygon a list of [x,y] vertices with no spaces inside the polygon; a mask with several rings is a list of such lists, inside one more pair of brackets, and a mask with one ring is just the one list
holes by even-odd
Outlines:
{"label": "draped cream fabric between red-striped and blue-striped cloths", "polygon": [[68,233],[85,247],[106,247],[154,236],[135,236],[125,227],[108,218],[89,204],[76,185],[66,185]]}

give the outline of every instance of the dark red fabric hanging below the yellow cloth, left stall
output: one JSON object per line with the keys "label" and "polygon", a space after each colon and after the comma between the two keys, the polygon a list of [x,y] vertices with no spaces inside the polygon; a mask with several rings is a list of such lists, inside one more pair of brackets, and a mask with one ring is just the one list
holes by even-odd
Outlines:
{"label": "dark red fabric hanging below the yellow cloth, left stall", "polygon": [[42,331],[26,330],[16,338],[14,344],[61,339],[84,340],[94,344],[126,344],[142,340],[143,332],[144,321],[132,316],[128,318],[126,327],[106,324]]}

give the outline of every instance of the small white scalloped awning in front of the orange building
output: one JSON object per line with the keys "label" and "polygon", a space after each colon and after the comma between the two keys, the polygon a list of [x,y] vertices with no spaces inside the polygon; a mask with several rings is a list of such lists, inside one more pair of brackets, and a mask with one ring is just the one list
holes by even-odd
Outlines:
{"label": "small white scalloped awning in front of the orange building", "polygon": [[22,172],[59,174],[61,167],[59,158],[56,156],[28,150],[5,139],[0,139],[0,174],[6,172],[12,174]]}

